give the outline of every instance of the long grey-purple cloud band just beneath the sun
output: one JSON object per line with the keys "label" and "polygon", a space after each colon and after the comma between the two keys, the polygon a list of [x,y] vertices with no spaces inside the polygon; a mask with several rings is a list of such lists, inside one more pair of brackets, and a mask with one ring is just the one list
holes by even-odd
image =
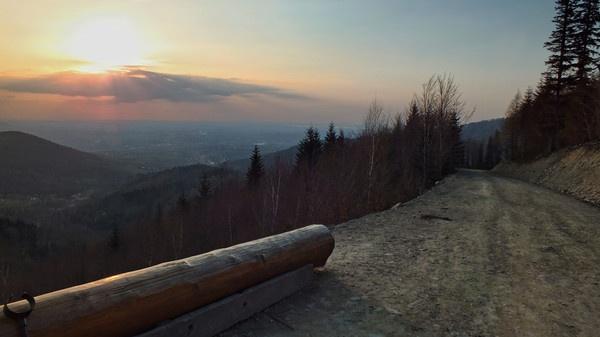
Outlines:
{"label": "long grey-purple cloud band just beneath the sun", "polygon": [[307,98],[276,87],[222,78],[158,73],[137,67],[98,74],[61,72],[29,78],[0,77],[0,89],[90,98],[108,96],[117,102],[211,102],[232,96]]}

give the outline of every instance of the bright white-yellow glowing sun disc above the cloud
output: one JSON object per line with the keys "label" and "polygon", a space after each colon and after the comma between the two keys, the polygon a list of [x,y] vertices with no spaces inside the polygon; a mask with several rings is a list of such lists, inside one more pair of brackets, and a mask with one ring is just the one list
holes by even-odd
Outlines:
{"label": "bright white-yellow glowing sun disc above the cloud", "polygon": [[77,25],[65,49],[70,57],[84,63],[78,70],[102,72],[146,65],[148,48],[143,42],[126,18],[97,18]]}

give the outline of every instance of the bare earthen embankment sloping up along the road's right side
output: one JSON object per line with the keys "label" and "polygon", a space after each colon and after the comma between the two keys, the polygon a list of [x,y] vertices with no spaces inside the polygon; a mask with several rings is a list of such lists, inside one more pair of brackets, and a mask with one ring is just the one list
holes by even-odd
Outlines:
{"label": "bare earthen embankment sloping up along the road's right side", "polygon": [[527,163],[503,162],[493,171],[600,206],[600,143],[563,149]]}

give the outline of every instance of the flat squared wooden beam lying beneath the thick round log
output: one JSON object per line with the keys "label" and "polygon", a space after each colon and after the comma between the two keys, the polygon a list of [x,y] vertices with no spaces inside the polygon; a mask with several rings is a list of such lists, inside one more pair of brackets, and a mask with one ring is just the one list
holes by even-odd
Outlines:
{"label": "flat squared wooden beam lying beneath the thick round log", "polygon": [[302,289],[313,279],[312,269],[308,265],[277,276],[136,337],[215,336]]}

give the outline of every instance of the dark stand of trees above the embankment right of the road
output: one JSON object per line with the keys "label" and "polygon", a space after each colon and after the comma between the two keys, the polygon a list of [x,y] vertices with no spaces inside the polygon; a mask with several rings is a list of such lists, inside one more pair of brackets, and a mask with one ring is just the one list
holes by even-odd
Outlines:
{"label": "dark stand of trees above the embankment right of the road", "polygon": [[600,139],[599,0],[557,0],[547,70],[506,116],[506,159],[526,161]]}

